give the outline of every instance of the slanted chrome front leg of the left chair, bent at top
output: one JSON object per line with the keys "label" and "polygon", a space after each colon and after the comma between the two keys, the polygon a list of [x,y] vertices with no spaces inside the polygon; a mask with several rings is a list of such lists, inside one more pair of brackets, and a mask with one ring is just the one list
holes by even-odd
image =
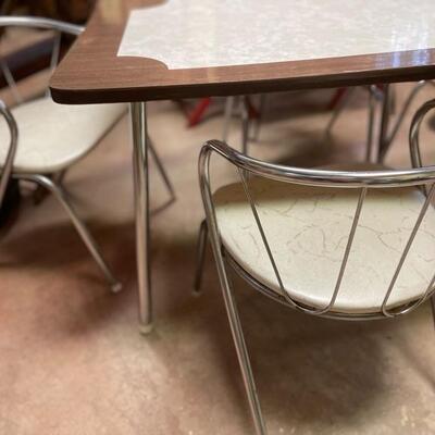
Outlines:
{"label": "slanted chrome front leg of the left chair, bent at top", "polygon": [[77,213],[71,206],[65,191],[60,185],[57,185],[52,179],[44,175],[33,175],[33,174],[25,174],[25,175],[17,175],[17,177],[23,179],[28,179],[30,182],[35,182],[40,186],[44,186],[47,190],[49,190],[53,196],[58,199],[61,203],[63,209],[66,211],[67,215],[70,216],[74,227],[76,228],[78,235],[82,237],[82,240],[88,248],[90,254],[92,256],[94,260],[99,265],[101,272],[103,273],[105,279],[108,281],[111,290],[113,293],[117,293],[122,289],[122,284],[113,276],[112,272],[110,271],[109,266],[105,264],[103,260],[98,245],[95,241],[94,237],[90,235],[88,228],[86,227],[85,223],[78,217]]}

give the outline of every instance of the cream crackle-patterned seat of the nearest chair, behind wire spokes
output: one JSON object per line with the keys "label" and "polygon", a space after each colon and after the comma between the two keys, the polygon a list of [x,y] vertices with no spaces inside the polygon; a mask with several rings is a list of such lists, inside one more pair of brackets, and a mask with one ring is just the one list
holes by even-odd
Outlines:
{"label": "cream crackle-patterned seat of the nearest chair, behind wire spokes", "polygon": [[[360,189],[297,186],[258,177],[250,178],[249,186],[285,291],[298,302],[325,308],[334,293]],[[369,190],[332,311],[380,312],[424,201],[415,188]],[[256,279],[281,293],[243,185],[220,188],[214,202],[225,249]],[[434,273],[435,210],[430,207],[387,307],[424,295]]]}

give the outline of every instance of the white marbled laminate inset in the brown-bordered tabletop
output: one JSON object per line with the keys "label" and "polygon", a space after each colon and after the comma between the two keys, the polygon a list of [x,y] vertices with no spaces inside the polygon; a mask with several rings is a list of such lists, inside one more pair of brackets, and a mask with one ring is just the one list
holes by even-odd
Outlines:
{"label": "white marbled laminate inset in the brown-bordered tabletop", "polygon": [[117,54],[177,70],[400,52],[434,48],[434,0],[167,0],[132,11]]}

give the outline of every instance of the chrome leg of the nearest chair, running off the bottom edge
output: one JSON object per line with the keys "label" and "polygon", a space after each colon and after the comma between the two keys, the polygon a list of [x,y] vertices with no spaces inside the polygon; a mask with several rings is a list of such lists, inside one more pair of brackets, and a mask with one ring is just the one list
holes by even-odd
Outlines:
{"label": "chrome leg of the nearest chair, running off the bottom edge", "polygon": [[[222,262],[224,260],[221,254]],[[220,281],[222,285],[222,291],[225,300],[226,313],[228,315],[229,326],[233,334],[234,344],[237,351],[238,362],[240,364],[240,371],[244,378],[246,394],[248,396],[249,407],[251,410],[253,424],[256,426],[257,435],[266,435],[265,423],[263,413],[261,411],[260,400],[257,393],[256,382],[253,380],[252,368],[249,359],[248,349],[246,347],[245,336],[241,328],[240,318],[237,310],[236,300],[229,283],[226,276],[225,265],[217,268],[220,274]],[[223,274],[223,276],[222,276]]]}

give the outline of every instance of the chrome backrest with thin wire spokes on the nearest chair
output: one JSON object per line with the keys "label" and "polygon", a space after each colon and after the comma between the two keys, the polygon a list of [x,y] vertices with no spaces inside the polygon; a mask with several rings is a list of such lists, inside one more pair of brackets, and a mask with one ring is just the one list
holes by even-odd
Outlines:
{"label": "chrome backrest with thin wire spokes on the nearest chair", "polygon": [[[361,212],[364,209],[364,201],[369,191],[373,189],[408,189],[409,187],[415,187],[421,190],[422,201],[420,210],[417,212],[415,221],[410,228],[409,236],[405,243],[405,248],[399,252],[397,264],[395,264],[393,275],[388,279],[389,284],[385,289],[382,303],[378,307],[378,312],[370,314],[370,316],[396,316],[405,314],[426,300],[435,290],[435,268],[433,271],[433,277],[428,279],[427,286],[422,289],[418,300],[407,302],[405,306],[395,307],[394,309],[388,304],[391,293],[398,281],[400,271],[402,270],[403,263],[411,250],[411,247],[415,240],[415,237],[421,229],[422,222],[426,215],[426,212],[432,208],[432,200],[435,195],[435,166],[422,167],[422,161],[420,157],[419,147],[419,133],[422,121],[425,114],[435,108],[435,100],[426,102],[414,115],[411,129],[410,129],[410,151],[411,159],[414,169],[410,170],[382,170],[382,171],[360,171],[360,172],[344,172],[344,171],[332,171],[321,169],[298,169],[285,165],[278,165],[274,163],[268,163],[252,159],[248,156],[241,154],[228,147],[226,144],[211,140],[208,141],[201,150],[199,159],[199,177],[201,185],[201,194],[212,234],[212,243],[214,243],[213,250],[215,256],[221,252],[221,237],[220,228],[216,219],[215,203],[210,185],[210,158],[212,153],[217,153],[231,164],[236,166],[238,176],[245,194],[245,199],[250,206],[253,221],[257,225],[258,234],[260,239],[256,244],[262,246],[269,258],[270,265],[273,269],[276,282],[281,289],[281,296],[286,300],[293,308],[308,312],[315,315],[328,315],[334,316],[334,304],[337,300],[337,296],[340,291],[341,282],[346,273],[346,266],[348,264],[349,257],[351,256],[352,244],[355,236],[359,229],[359,221]],[[313,308],[301,303],[286,291],[283,284],[282,274],[275,261],[273,249],[268,239],[266,232],[263,228],[260,213],[258,210],[258,203],[251,188],[251,179],[253,177],[269,178],[282,183],[290,183],[295,185],[312,186],[315,188],[327,188],[327,189],[356,189],[357,204],[350,225],[350,232],[347,235],[347,240],[344,246],[341,254],[340,266],[338,269],[338,275],[335,281],[335,286],[332,291],[331,300],[322,308]],[[390,190],[389,190],[390,191]],[[412,190],[413,191],[413,190]],[[214,241],[213,241],[214,240]],[[217,246],[219,245],[219,246]],[[432,272],[431,272],[432,273]],[[355,315],[356,318],[358,315]],[[369,316],[369,315],[368,315]]]}

